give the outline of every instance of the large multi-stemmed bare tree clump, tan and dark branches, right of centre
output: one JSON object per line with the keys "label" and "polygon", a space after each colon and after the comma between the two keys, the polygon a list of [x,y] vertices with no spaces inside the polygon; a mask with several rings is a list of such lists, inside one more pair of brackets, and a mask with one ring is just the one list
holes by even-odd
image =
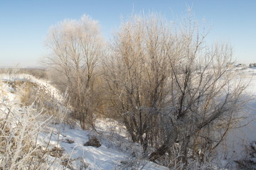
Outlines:
{"label": "large multi-stemmed bare tree clump, tan and dark branches, right of centre", "polygon": [[[230,45],[205,42],[193,16],[170,25],[161,16],[122,23],[105,62],[110,112],[120,118],[151,161],[181,146],[180,162],[203,157],[223,139],[245,86],[233,86]],[[217,135],[215,130],[219,130]],[[224,129],[224,130],[223,130]],[[147,147],[155,148],[147,154]]]}

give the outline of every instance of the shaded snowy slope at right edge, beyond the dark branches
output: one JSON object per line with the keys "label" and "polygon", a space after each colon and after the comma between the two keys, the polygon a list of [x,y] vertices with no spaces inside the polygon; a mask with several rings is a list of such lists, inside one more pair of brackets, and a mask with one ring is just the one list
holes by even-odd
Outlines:
{"label": "shaded snowy slope at right edge, beyond the dark branches", "polygon": [[222,145],[217,148],[223,164],[228,164],[230,168],[235,167],[234,161],[247,157],[245,147],[249,147],[250,142],[256,141],[256,68],[240,68],[235,72],[242,75],[243,82],[249,83],[245,90],[245,98],[249,102],[240,113],[241,119],[228,132]]}

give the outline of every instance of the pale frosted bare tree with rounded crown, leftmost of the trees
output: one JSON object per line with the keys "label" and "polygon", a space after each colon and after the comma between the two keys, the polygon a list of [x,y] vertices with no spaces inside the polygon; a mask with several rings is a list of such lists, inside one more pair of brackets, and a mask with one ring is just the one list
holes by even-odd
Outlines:
{"label": "pale frosted bare tree with rounded crown, leftmost of the trees", "polygon": [[103,41],[97,21],[82,16],[79,21],[65,20],[50,28],[47,63],[65,76],[75,118],[85,129],[93,126],[95,109],[95,74],[102,56]]}

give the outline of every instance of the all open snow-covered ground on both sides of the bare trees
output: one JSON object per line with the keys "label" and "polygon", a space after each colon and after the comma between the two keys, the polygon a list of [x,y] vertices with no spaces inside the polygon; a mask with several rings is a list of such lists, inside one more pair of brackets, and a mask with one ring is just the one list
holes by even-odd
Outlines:
{"label": "all open snow-covered ground on both sides of the bare trees", "polygon": [[[236,125],[242,127],[230,130],[226,140],[217,148],[219,159],[223,160],[223,164],[232,164],[230,162],[244,157],[245,146],[256,140],[256,69],[243,69],[236,72],[242,72],[245,81],[250,81],[246,89],[250,101],[241,113],[243,118]],[[29,79],[48,89],[56,100],[61,101],[63,98],[47,81],[36,79],[28,74],[1,74],[0,79],[0,109],[3,112],[6,111],[4,108],[6,103],[13,111],[23,109],[19,94],[9,84],[4,83],[7,80]],[[38,121],[42,123],[44,120]],[[143,159],[135,159],[134,154],[139,154],[142,148],[128,141],[127,132],[119,123],[100,119],[97,120],[96,130],[97,132],[81,130],[78,125],[66,125],[54,119],[50,120],[37,137],[37,143],[43,149],[59,149],[59,157],[47,156],[48,168],[125,169],[126,166],[133,164],[135,169],[166,169]],[[84,146],[92,136],[100,140],[100,147]]]}

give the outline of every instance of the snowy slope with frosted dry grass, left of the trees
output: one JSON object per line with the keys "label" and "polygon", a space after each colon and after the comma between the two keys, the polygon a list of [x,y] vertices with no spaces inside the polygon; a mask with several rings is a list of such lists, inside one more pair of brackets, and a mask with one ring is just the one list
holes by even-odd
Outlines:
{"label": "snowy slope with frosted dry grass, left of the trees", "polygon": [[[53,104],[58,105],[58,113],[48,115],[43,109],[38,111],[38,101],[28,106],[21,102],[27,92],[27,82],[33,84],[33,88],[43,89],[44,97],[51,96],[57,101]],[[46,81],[28,74],[1,74],[0,91],[3,118],[0,125],[9,123],[8,128],[16,132],[15,142],[3,138],[11,135],[9,132],[1,133],[1,169],[166,169],[137,159],[142,148],[129,142],[124,127],[114,120],[97,120],[97,132],[82,130],[75,122],[68,123],[65,120],[68,108],[61,106],[63,96]],[[93,137],[100,140],[101,146],[84,146]],[[18,144],[20,146],[12,148]]]}

